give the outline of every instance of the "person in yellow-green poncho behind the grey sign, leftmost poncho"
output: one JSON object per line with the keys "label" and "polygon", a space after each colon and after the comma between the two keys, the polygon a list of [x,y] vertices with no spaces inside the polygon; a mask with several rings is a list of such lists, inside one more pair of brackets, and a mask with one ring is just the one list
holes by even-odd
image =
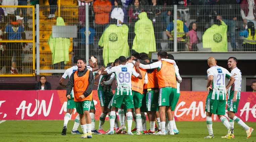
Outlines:
{"label": "person in yellow-green poncho behind the grey sign, leftmost poncho", "polygon": [[[65,22],[61,17],[57,18],[56,22],[57,26],[64,26]],[[69,62],[68,49],[70,46],[69,38],[52,38],[51,36],[48,40],[48,45],[52,52],[52,64],[54,65],[54,69],[57,69],[57,63],[61,63],[61,69],[64,69],[64,64]],[[63,64],[64,63],[64,64]]]}

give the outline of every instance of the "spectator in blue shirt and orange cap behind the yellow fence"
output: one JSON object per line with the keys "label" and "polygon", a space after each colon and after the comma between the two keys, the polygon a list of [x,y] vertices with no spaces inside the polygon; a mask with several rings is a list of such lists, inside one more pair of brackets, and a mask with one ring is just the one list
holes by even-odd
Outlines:
{"label": "spectator in blue shirt and orange cap behind the yellow fence", "polygon": [[[5,40],[25,40],[25,32],[24,28],[21,26],[21,20],[23,20],[23,17],[20,16],[12,16],[11,17],[11,24],[8,24],[5,27],[5,34],[4,39]],[[21,43],[6,43],[6,48],[4,51],[5,56],[5,66],[6,66],[6,73],[22,73],[22,46],[24,46]],[[17,71],[13,72],[11,71],[11,65],[12,65],[12,56],[15,53],[15,60],[17,65]]]}

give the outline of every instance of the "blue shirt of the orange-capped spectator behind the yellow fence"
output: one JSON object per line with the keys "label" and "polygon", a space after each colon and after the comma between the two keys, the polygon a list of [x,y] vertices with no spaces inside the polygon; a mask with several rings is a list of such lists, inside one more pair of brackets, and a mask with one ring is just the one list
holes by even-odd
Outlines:
{"label": "blue shirt of the orange-capped spectator behind the yellow fence", "polygon": [[8,40],[22,40],[21,35],[24,32],[24,28],[21,25],[18,27],[14,27],[11,24],[8,24],[5,27],[5,32],[8,34]]}

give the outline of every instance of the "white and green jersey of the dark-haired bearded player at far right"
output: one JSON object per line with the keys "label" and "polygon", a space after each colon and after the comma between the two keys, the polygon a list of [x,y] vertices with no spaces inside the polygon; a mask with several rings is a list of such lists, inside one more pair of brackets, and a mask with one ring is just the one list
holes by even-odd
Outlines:
{"label": "white and green jersey of the dark-haired bearded player at far right", "polygon": [[242,88],[242,73],[241,73],[240,69],[238,69],[236,67],[231,71],[231,74],[234,76],[235,82],[228,88],[228,99],[234,98],[235,91],[237,91],[236,99],[240,99],[241,88]]}

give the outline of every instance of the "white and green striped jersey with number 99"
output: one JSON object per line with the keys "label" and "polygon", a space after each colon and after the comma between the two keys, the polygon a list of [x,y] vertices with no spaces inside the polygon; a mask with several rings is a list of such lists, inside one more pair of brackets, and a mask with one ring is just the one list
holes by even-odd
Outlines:
{"label": "white and green striped jersey with number 99", "polygon": [[117,95],[122,95],[124,91],[127,95],[132,94],[132,75],[135,77],[140,75],[129,64],[112,67],[107,70],[107,73],[115,73]]}

